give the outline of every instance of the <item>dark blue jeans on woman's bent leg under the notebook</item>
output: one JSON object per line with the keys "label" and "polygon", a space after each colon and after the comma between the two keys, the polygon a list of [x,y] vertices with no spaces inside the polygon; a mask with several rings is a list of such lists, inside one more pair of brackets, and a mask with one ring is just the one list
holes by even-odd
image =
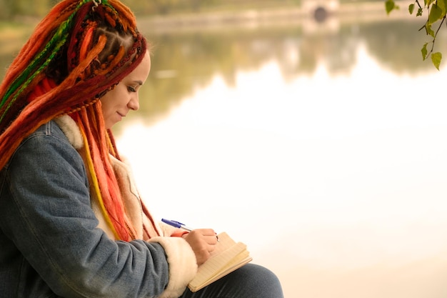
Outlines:
{"label": "dark blue jeans on woman's bent leg under the notebook", "polygon": [[283,290],[270,270],[257,264],[245,266],[198,292],[186,289],[179,298],[283,298]]}

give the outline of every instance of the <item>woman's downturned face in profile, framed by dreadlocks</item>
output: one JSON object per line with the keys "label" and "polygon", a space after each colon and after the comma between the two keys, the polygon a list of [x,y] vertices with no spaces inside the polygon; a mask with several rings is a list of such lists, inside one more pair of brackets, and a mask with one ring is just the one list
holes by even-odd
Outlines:
{"label": "woman's downturned face in profile, framed by dreadlocks", "polygon": [[130,110],[139,109],[138,92],[151,70],[151,56],[146,52],[141,63],[116,85],[115,89],[101,97],[102,113],[106,129],[121,121]]}

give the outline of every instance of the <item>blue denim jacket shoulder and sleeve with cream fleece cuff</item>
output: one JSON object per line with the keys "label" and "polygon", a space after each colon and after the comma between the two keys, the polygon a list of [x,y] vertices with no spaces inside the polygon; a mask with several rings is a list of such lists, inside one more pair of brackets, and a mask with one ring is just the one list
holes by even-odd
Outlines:
{"label": "blue denim jacket shoulder and sleeve with cream fleece cuff", "polygon": [[111,239],[69,139],[49,121],[0,171],[1,297],[179,297],[196,273],[191,247],[169,235]]}

